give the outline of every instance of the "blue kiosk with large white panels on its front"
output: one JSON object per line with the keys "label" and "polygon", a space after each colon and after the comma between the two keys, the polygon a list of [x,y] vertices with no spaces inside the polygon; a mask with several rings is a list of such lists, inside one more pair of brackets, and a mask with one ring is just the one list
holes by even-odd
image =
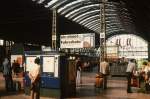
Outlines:
{"label": "blue kiosk with large white panels on its front", "polygon": [[[31,81],[28,72],[34,68],[34,59],[41,59],[40,96],[50,98],[67,98],[75,95],[75,65],[70,55],[58,52],[25,52],[25,94],[30,94]],[[72,76],[72,77],[71,77]]]}

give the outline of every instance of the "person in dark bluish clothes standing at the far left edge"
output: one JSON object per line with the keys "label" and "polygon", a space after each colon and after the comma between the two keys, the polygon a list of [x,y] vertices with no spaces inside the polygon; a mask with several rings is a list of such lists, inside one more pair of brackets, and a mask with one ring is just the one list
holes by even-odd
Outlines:
{"label": "person in dark bluish clothes standing at the far left edge", "polygon": [[5,58],[3,61],[3,76],[5,78],[6,90],[11,91],[13,87],[13,80],[12,80],[12,69],[8,58]]}

